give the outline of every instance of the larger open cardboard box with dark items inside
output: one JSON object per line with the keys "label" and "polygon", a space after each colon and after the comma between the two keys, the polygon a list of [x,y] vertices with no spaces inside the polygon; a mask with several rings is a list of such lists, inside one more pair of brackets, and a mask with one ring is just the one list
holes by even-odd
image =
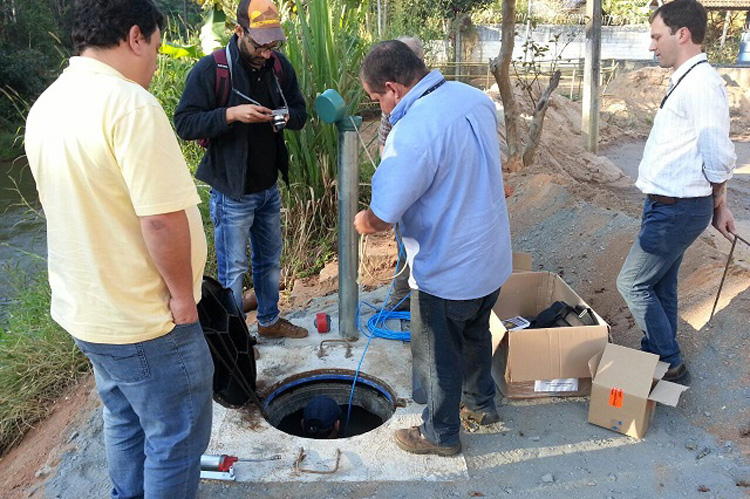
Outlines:
{"label": "larger open cardboard box with dark items inside", "polygon": [[[514,267],[517,261],[514,255]],[[558,300],[588,307],[560,276],[550,272],[514,272],[503,285],[490,316],[490,331],[492,375],[506,397],[591,392],[588,362],[604,350],[609,337],[609,325],[596,312],[597,325],[592,326],[506,331],[502,325],[502,319],[517,315],[535,317]]]}

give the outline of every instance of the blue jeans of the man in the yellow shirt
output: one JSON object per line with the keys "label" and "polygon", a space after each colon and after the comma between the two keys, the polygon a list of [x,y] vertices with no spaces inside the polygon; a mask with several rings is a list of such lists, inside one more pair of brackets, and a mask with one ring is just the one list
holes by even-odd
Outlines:
{"label": "blue jeans of the man in the yellow shirt", "polygon": [[75,341],[104,402],[112,498],[195,497],[214,370],[200,324],[129,345]]}

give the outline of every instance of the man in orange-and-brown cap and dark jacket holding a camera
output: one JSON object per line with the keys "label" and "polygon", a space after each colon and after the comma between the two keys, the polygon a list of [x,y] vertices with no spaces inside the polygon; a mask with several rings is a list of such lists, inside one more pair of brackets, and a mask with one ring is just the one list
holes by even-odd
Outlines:
{"label": "man in orange-and-brown cap and dark jacket holding a camera", "polygon": [[[278,307],[279,172],[289,182],[283,130],[300,130],[307,120],[297,75],[279,52],[285,40],[273,3],[242,0],[235,34],[190,71],[174,116],[180,137],[209,141],[195,176],[211,186],[218,278],[242,309],[249,239],[258,334],[267,338],[308,334]],[[222,67],[228,78],[219,76]]]}

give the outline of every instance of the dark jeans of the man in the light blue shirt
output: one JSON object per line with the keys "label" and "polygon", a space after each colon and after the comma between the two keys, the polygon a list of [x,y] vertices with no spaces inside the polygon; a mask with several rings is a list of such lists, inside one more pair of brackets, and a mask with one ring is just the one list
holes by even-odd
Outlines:
{"label": "dark jeans of the man in the light blue shirt", "polygon": [[427,392],[422,435],[441,446],[458,444],[461,402],[493,412],[490,311],[500,290],[474,300],[444,300],[412,290],[411,351],[419,384]]}

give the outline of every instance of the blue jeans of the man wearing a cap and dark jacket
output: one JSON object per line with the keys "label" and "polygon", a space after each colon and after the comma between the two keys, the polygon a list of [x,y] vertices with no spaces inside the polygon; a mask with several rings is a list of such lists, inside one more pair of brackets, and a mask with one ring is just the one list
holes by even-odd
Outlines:
{"label": "blue jeans of the man wearing a cap and dark jacket", "polygon": [[281,276],[281,196],[279,188],[245,194],[237,201],[211,191],[219,282],[232,290],[242,310],[242,281],[247,273],[250,239],[253,287],[258,298],[258,324],[270,326],[279,318]]}

